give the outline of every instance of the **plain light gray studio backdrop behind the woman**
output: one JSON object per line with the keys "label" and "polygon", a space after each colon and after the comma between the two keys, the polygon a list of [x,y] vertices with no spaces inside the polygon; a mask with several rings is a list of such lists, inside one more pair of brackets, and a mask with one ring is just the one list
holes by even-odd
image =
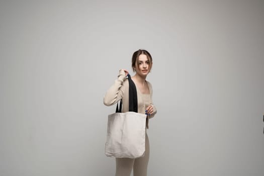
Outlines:
{"label": "plain light gray studio backdrop behind the woman", "polygon": [[264,174],[263,1],[1,1],[0,175],[114,175],[107,89],[139,48],[148,175]]}

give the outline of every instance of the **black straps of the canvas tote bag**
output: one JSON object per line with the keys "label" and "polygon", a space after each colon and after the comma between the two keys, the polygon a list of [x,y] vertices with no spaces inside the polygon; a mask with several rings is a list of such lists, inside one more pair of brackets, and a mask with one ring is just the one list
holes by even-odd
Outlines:
{"label": "black straps of the canvas tote bag", "polygon": [[[133,80],[131,79],[130,74],[127,75],[128,84],[129,84],[129,110],[137,113],[137,88]],[[116,108],[116,113],[122,112],[122,99],[120,100],[120,107],[118,109],[118,103]]]}

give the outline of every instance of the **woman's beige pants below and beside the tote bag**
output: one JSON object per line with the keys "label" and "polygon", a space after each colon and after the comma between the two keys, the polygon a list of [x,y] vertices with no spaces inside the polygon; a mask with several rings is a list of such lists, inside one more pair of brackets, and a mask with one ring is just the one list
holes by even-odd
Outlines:
{"label": "woman's beige pants below and beside the tote bag", "polygon": [[146,133],[145,155],[140,158],[116,158],[116,176],[130,176],[133,168],[134,176],[146,176],[149,160],[149,141]]}

